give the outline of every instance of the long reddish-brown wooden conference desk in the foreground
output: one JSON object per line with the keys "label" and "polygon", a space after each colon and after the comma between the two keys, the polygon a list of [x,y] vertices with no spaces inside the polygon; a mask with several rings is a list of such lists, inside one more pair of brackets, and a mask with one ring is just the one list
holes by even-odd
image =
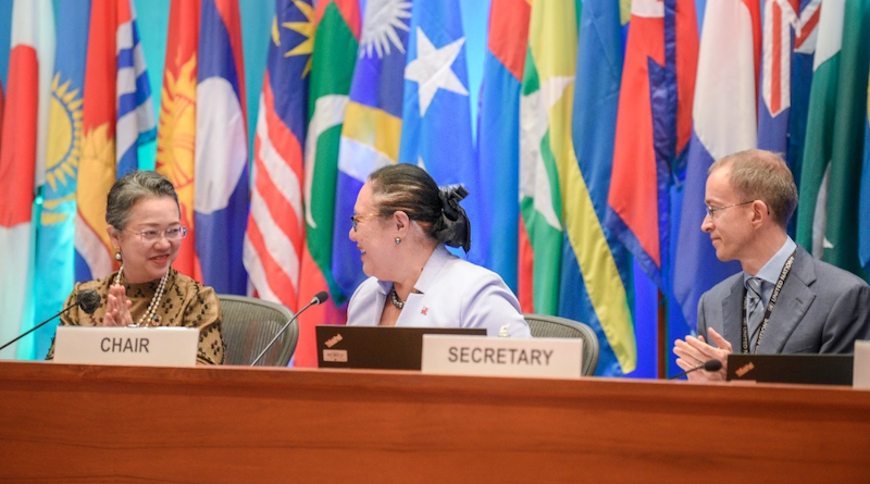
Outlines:
{"label": "long reddish-brown wooden conference desk in the foreground", "polygon": [[870,482],[870,392],[5,361],[0,482]]}

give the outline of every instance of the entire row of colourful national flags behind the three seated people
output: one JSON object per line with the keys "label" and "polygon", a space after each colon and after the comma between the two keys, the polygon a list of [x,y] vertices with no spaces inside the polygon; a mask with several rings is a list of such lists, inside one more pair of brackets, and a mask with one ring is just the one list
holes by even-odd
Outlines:
{"label": "entire row of colourful national flags behind the three seated people", "polygon": [[867,276],[870,0],[707,0],[700,23],[691,0],[492,0],[476,123],[459,1],[276,0],[250,159],[236,0],[172,3],[159,119],[128,0],[61,2],[57,42],[51,2],[16,1],[0,249],[17,265],[0,282],[8,321],[27,323],[0,325],[2,339],[112,270],[105,191],[154,137],[189,227],[176,269],[294,311],[331,294],[300,319],[302,367],[316,364],[313,325],[344,323],[365,277],[348,239],[357,194],[397,162],[469,188],[468,259],[523,311],[589,324],[604,375],[664,346],[636,336],[661,324],[634,309],[638,277],[679,306],[676,338],[739,270],[699,229],[707,169],[732,152],[782,152],[796,240]]}

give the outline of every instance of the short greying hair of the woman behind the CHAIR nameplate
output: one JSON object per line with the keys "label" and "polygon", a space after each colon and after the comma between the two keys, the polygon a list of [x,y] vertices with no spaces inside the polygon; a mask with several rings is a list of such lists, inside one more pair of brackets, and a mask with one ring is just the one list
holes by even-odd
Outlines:
{"label": "short greying hair of the woman behind the CHAIR nameplate", "polygon": [[105,201],[105,222],[115,229],[124,229],[129,221],[133,206],[146,197],[170,197],[175,200],[178,213],[182,212],[178,194],[175,193],[172,182],[157,172],[135,171],[119,178],[109,190]]}

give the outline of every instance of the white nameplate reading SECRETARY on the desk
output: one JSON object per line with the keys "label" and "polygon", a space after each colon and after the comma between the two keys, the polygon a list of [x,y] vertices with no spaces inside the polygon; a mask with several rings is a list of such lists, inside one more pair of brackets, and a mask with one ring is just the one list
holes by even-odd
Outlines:
{"label": "white nameplate reading SECRETARY on the desk", "polygon": [[579,338],[423,335],[422,372],[443,375],[579,378]]}

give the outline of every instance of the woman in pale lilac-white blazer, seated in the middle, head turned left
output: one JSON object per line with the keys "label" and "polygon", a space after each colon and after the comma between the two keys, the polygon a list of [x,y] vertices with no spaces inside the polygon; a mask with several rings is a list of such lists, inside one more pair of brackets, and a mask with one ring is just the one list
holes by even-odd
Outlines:
{"label": "woman in pale lilac-white blazer, seated in the middle, head turned left", "polygon": [[369,278],[353,293],[348,325],[484,327],[530,337],[520,303],[498,274],[447,251],[471,248],[461,187],[439,189],[412,164],[384,166],[362,186],[349,237]]}

